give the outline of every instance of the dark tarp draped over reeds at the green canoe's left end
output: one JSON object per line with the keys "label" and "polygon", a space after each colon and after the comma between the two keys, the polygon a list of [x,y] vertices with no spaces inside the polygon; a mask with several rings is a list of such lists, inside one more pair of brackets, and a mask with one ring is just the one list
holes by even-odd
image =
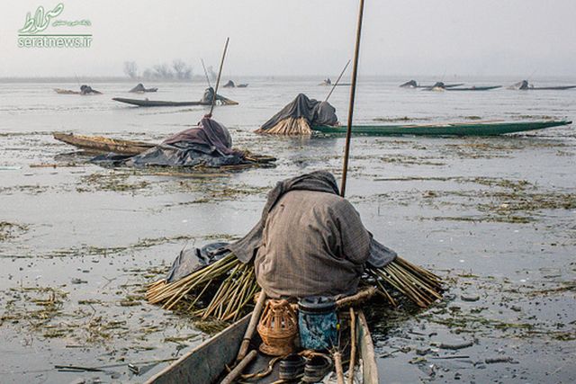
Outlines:
{"label": "dark tarp draped over reeds at the green canoe's left end", "polygon": [[328,102],[319,102],[310,99],[305,94],[298,94],[296,98],[287,104],[282,111],[276,113],[272,119],[266,121],[259,130],[272,129],[281,121],[288,118],[305,118],[311,127],[315,125],[335,125],[338,123],[336,109]]}

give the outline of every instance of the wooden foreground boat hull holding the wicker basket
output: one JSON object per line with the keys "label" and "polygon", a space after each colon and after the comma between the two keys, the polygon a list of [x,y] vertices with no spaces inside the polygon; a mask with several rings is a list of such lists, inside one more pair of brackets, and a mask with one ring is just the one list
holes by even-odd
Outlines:
{"label": "wooden foreground boat hull holding the wicker basket", "polygon": [[[362,311],[357,311],[356,321],[356,345],[358,358],[362,359],[364,378],[363,384],[378,383],[378,369],[376,365],[374,344],[372,336],[366,323],[366,318]],[[236,360],[238,347],[244,337],[250,315],[244,317],[220,334],[215,335],[206,342],[193,348],[188,353],[170,364],[164,370],[159,371],[156,375],[146,381],[147,384],[211,384],[219,382],[227,373],[227,366],[232,366]],[[259,344],[259,337],[255,335],[252,348]],[[265,367],[271,358],[258,354],[257,361],[252,363],[252,369],[256,367]],[[360,361],[360,360],[358,360]],[[247,371],[250,370],[248,366]],[[260,381],[270,383],[278,380],[278,364],[275,364],[275,370]]]}

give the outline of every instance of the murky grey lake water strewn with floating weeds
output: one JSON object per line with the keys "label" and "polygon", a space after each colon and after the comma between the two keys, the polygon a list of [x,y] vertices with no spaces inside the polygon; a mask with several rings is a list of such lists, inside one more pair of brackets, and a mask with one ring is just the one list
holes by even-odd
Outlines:
{"label": "murky grey lake water strewn with floating weeds", "polygon": [[[404,80],[363,79],[356,121],[576,119],[576,91],[433,93],[398,88]],[[251,133],[296,94],[323,99],[329,89],[313,78],[247,82],[222,91],[240,104],[217,108],[215,119],[235,146],[275,155],[277,165],[212,178],[104,169],[51,137],[159,141],[193,125],[202,107],[113,102],[130,97],[128,83],[94,83],[104,94],[85,97],[51,90],[76,84],[0,84],[3,382],[143,380],[166,364],[157,361],[207,337],[189,318],[148,305],[145,284],[184,246],[246,233],[276,181],[315,169],[339,176],[342,138]],[[547,81],[566,83],[576,80]],[[198,100],[204,88],[146,85],[160,89],[151,100]],[[338,87],[330,99],[341,121],[347,97]],[[573,126],[496,138],[354,138],[352,155],[347,193],[366,227],[449,288],[426,311],[368,311],[383,382],[576,380]],[[473,345],[445,349],[464,342]]]}

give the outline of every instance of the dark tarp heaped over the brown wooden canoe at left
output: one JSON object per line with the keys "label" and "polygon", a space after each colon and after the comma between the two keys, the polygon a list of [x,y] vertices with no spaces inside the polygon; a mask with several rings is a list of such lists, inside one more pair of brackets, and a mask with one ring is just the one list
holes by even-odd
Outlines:
{"label": "dark tarp heaped over the brown wooden canoe at left", "polygon": [[241,152],[232,148],[232,138],[228,129],[204,117],[198,127],[185,129],[166,138],[160,145],[151,147],[136,156],[97,156],[94,163],[112,165],[166,165],[218,167],[238,165],[244,161]]}

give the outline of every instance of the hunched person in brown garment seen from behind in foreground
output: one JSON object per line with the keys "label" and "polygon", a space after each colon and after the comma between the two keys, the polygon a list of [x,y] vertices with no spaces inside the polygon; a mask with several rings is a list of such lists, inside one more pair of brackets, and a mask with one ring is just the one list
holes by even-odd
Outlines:
{"label": "hunched person in brown garment seen from behind in foreground", "polygon": [[374,240],[326,171],[277,183],[257,226],[226,248],[244,263],[254,258],[271,298],[354,294],[365,263],[382,267],[396,256]]}

